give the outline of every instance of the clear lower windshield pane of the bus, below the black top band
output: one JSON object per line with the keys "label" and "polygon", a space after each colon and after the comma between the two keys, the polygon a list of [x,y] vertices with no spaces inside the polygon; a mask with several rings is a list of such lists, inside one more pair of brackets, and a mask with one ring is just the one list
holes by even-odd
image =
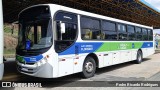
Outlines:
{"label": "clear lower windshield pane of the bus, below the black top band", "polygon": [[51,19],[21,23],[19,31],[19,49],[42,49],[52,45]]}

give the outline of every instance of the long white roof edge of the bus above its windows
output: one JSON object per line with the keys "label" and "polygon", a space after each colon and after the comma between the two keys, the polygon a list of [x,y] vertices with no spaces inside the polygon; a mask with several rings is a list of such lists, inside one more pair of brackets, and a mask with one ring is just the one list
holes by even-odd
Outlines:
{"label": "long white roof edge of the bus above its windows", "polygon": [[69,8],[69,7],[62,6],[62,5],[57,5],[57,4],[38,4],[38,5],[33,5],[33,6],[28,7],[28,8],[25,8],[19,14],[21,14],[23,11],[25,11],[25,10],[27,10],[29,8],[36,7],[36,6],[46,6],[46,5],[48,5],[50,7],[51,11],[55,9],[54,7],[57,7],[57,8],[59,8],[58,10],[67,11],[67,12],[71,12],[71,13],[76,13],[76,14],[79,14],[79,15],[85,15],[85,16],[89,16],[89,17],[94,17],[94,18],[114,21],[114,22],[118,22],[118,23],[135,25],[137,27],[144,27],[144,28],[153,29],[153,27],[150,27],[150,26],[141,25],[141,24],[137,24],[137,23],[133,23],[133,22],[128,22],[128,21],[124,21],[124,20],[120,20],[120,19],[116,19],[116,18],[112,18],[112,17],[108,17],[108,16],[98,15],[98,14],[94,14],[94,13],[90,13],[90,12],[86,12],[86,11],[82,11],[82,10],[78,10],[78,9],[74,9],[74,8]]}

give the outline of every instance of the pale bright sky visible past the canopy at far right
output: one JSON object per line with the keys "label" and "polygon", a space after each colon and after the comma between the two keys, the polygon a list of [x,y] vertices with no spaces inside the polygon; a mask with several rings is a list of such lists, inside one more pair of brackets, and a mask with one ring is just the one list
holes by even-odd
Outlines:
{"label": "pale bright sky visible past the canopy at far right", "polygon": [[[160,0],[140,0],[140,1],[143,2],[144,4],[150,6],[154,10],[160,12]],[[154,33],[160,34],[160,29],[154,30]]]}

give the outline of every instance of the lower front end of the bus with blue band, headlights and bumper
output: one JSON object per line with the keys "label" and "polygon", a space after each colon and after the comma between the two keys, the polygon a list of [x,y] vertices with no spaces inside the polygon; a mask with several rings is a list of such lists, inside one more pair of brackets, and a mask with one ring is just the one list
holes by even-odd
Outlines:
{"label": "lower front end of the bus with blue band, headlights and bumper", "polygon": [[46,53],[38,56],[24,57],[17,55],[16,60],[17,69],[23,74],[41,78],[58,76],[58,55],[53,53],[52,47]]}

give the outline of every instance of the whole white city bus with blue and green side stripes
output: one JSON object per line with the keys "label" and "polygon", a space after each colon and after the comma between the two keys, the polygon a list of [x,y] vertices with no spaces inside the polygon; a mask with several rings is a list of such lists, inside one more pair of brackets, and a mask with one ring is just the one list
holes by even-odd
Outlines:
{"label": "whole white city bus with blue and green side stripes", "polygon": [[152,27],[61,5],[26,8],[19,14],[18,71],[57,78],[134,61],[154,53]]}

